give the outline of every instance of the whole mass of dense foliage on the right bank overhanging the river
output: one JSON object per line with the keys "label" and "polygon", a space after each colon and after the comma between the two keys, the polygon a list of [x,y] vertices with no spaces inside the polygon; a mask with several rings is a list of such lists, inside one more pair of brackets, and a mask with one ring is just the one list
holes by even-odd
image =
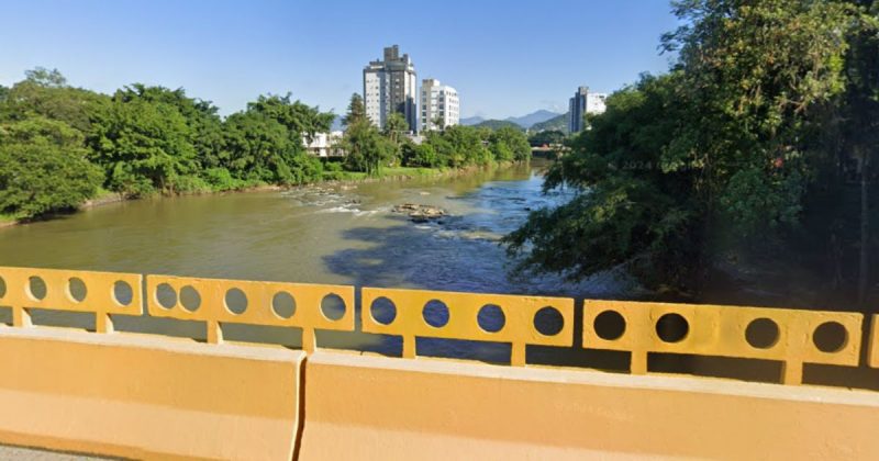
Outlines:
{"label": "whole mass of dense foliage on the right bank overhanging the river", "polygon": [[[847,173],[874,177],[879,2],[674,8],[683,25],[663,44],[677,63],[612,94],[552,168],[546,187],[577,194],[505,238],[522,269],[581,278],[625,267],[648,286],[696,291],[732,246],[835,238],[826,221],[803,226],[839,209],[828,191],[845,190]],[[867,252],[869,239],[859,245]]]}

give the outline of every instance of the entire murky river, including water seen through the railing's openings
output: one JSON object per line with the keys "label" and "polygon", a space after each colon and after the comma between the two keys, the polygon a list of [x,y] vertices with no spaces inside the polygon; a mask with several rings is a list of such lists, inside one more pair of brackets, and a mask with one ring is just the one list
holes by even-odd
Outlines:
{"label": "entire murky river, including water seen through the railing's openings", "polygon": [[[619,274],[570,283],[560,277],[510,277],[498,239],[531,210],[561,203],[566,192],[543,194],[539,165],[456,178],[315,185],[285,192],[154,199],[107,205],[55,221],[0,231],[0,265],[63,269],[420,288],[513,294],[631,299],[637,288]],[[402,203],[439,206],[449,216],[415,224],[393,214]],[[281,305],[286,307],[281,307]],[[293,306],[278,301],[278,308]],[[329,312],[352,306],[327,306]],[[420,306],[415,307],[420,308]],[[0,322],[9,322],[0,308]],[[441,321],[441,313],[430,313]],[[437,317],[438,316],[438,317]],[[93,328],[93,316],[35,312],[40,324]],[[497,318],[486,318],[491,328]],[[553,328],[552,319],[538,322]],[[575,318],[575,337],[581,316]],[[204,325],[148,317],[116,318],[119,329],[203,338]],[[358,323],[359,328],[359,323]],[[226,325],[227,339],[298,346],[292,328]],[[401,341],[380,335],[319,331],[322,346],[399,355]],[[575,341],[579,346],[579,340]],[[509,360],[510,346],[418,339],[419,353]],[[625,370],[625,352],[530,347],[528,361]],[[657,355],[653,370],[686,371],[760,381],[778,379],[778,363]],[[830,371],[827,371],[830,369]],[[857,370],[857,369],[856,369]],[[806,381],[879,383],[838,367],[806,366]]]}

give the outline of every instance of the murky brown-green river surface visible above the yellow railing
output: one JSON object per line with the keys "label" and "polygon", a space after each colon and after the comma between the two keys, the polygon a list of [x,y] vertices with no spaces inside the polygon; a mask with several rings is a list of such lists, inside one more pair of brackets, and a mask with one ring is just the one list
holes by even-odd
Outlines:
{"label": "murky brown-green river surface visible above the yellow railing", "polygon": [[[541,164],[457,177],[115,203],[0,231],[0,265],[435,290],[622,294],[613,278],[510,277],[498,239],[543,194]],[[443,207],[439,223],[392,213]]]}

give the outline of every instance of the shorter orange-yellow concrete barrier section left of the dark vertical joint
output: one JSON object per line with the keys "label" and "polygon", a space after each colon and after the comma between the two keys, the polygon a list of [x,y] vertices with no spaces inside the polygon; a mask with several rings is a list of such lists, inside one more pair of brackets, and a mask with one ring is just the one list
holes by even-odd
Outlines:
{"label": "shorter orange-yellow concrete barrier section left of the dark vertical joint", "polygon": [[304,352],[0,325],[0,443],[289,460]]}

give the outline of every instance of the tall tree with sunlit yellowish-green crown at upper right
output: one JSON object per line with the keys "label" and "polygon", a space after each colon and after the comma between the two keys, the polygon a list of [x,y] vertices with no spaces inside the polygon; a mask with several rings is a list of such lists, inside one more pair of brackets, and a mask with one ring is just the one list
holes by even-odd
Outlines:
{"label": "tall tree with sunlit yellowish-green crown at upper right", "polygon": [[853,9],[811,0],[674,8],[685,25],[664,44],[680,50],[682,95],[698,122],[669,145],[668,168],[700,165],[706,223],[728,221],[743,236],[795,224],[812,173],[802,130],[810,109],[844,88]]}

